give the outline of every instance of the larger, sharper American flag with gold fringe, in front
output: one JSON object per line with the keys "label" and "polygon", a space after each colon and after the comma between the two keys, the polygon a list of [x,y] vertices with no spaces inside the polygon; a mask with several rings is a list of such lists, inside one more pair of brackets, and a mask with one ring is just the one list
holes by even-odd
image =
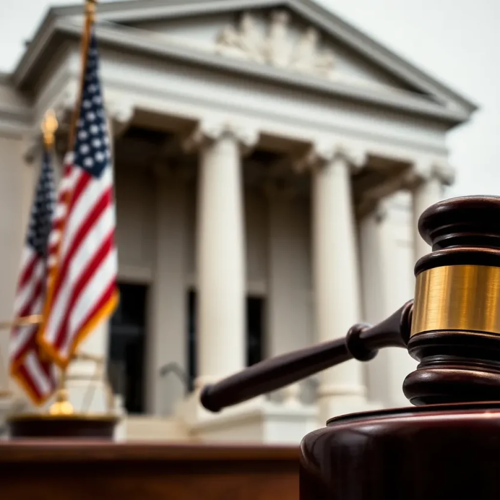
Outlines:
{"label": "larger, sharper American flag with gold fringe, in front", "polygon": [[86,52],[74,147],[65,159],[50,234],[50,278],[38,334],[60,366],[118,300],[111,149],[93,30]]}

